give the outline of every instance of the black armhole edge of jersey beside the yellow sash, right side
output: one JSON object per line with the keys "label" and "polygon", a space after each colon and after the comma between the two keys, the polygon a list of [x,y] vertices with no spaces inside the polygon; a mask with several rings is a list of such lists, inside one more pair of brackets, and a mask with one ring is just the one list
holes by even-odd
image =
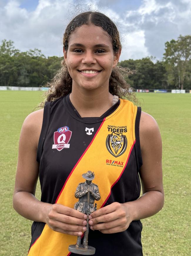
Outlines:
{"label": "black armhole edge of jersey beside the yellow sash, right side", "polygon": [[140,116],[141,116],[141,107],[137,107],[137,115],[135,118],[135,157],[137,162],[137,172],[139,172],[140,167],[143,164],[142,156],[141,156],[141,148],[140,148],[140,138],[139,138],[139,124],[140,124]]}

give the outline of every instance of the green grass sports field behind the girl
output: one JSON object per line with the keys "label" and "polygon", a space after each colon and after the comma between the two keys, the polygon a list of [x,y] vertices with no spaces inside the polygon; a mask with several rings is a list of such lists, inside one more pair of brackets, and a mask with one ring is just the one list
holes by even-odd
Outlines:
{"label": "green grass sports field behind the girl", "polygon": [[[165,205],[157,215],[142,220],[144,255],[190,255],[191,94],[140,93],[137,97],[142,110],[157,120],[163,141]],[[0,99],[0,255],[24,256],[32,222],[14,211],[12,193],[21,125],[41,101],[41,92],[0,91]],[[40,198],[39,184],[36,196]]]}

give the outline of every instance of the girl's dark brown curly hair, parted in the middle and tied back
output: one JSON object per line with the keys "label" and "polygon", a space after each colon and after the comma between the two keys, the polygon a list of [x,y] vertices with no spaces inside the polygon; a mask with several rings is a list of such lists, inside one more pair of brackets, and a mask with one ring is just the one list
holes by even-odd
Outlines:
{"label": "girl's dark brown curly hair, parted in the middle and tied back", "polygon": [[[64,50],[68,50],[70,36],[75,31],[76,27],[81,27],[84,24],[93,24],[102,27],[111,39],[113,53],[118,53],[121,48],[118,29],[110,18],[100,12],[83,12],[71,20],[63,35]],[[134,70],[116,66],[110,75],[109,92],[120,98],[125,97],[128,100],[137,102],[135,94],[133,93],[133,88],[131,88],[125,81],[125,77],[128,77],[133,73],[135,73]],[[58,70],[50,82],[47,82],[46,86],[50,88],[48,92],[45,93],[47,101],[56,100],[57,98],[63,97],[72,91],[72,78],[64,60],[61,61],[61,69]],[[43,102],[41,103],[41,106],[42,105],[44,105]]]}

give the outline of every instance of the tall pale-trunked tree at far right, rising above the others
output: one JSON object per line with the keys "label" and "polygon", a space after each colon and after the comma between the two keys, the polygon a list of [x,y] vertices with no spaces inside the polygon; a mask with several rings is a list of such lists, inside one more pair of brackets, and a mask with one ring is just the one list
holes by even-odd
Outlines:
{"label": "tall pale-trunked tree at far right, rising above the others", "polygon": [[188,74],[191,59],[191,35],[180,35],[177,40],[165,43],[164,61],[168,82],[178,84],[184,89],[185,76]]}

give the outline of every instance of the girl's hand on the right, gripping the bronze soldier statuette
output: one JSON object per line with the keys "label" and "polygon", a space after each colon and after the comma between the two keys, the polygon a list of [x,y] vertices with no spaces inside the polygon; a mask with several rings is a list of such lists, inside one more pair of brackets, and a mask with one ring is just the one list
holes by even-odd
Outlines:
{"label": "girl's hand on the right, gripping the bronze soldier statuette", "polygon": [[89,216],[90,228],[99,230],[103,234],[125,231],[131,221],[127,205],[118,202],[100,208]]}

